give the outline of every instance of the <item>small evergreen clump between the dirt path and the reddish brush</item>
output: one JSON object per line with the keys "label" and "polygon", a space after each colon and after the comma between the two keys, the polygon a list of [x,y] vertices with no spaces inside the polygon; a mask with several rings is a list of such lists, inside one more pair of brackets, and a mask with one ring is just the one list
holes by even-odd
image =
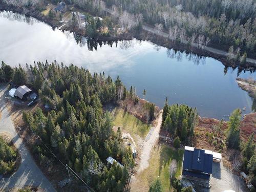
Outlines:
{"label": "small evergreen clump between the dirt path and the reddish brush", "polygon": [[[196,109],[185,104],[169,106],[166,98],[163,108],[162,129],[168,131],[173,137],[178,137],[183,143],[188,144],[194,135],[196,119]],[[175,143],[179,139],[176,139]]]}

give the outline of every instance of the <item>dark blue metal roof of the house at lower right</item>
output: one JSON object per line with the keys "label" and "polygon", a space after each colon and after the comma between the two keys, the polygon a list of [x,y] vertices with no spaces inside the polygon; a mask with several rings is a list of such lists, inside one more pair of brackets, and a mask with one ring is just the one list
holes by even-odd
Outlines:
{"label": "dark blue metal roof of the house at lower right", "polygon": [[205,154],[204,150],[197,148],[194,151],[185,150],[183,169],[193,170],[194,172],[212,173],[212,155]]}

